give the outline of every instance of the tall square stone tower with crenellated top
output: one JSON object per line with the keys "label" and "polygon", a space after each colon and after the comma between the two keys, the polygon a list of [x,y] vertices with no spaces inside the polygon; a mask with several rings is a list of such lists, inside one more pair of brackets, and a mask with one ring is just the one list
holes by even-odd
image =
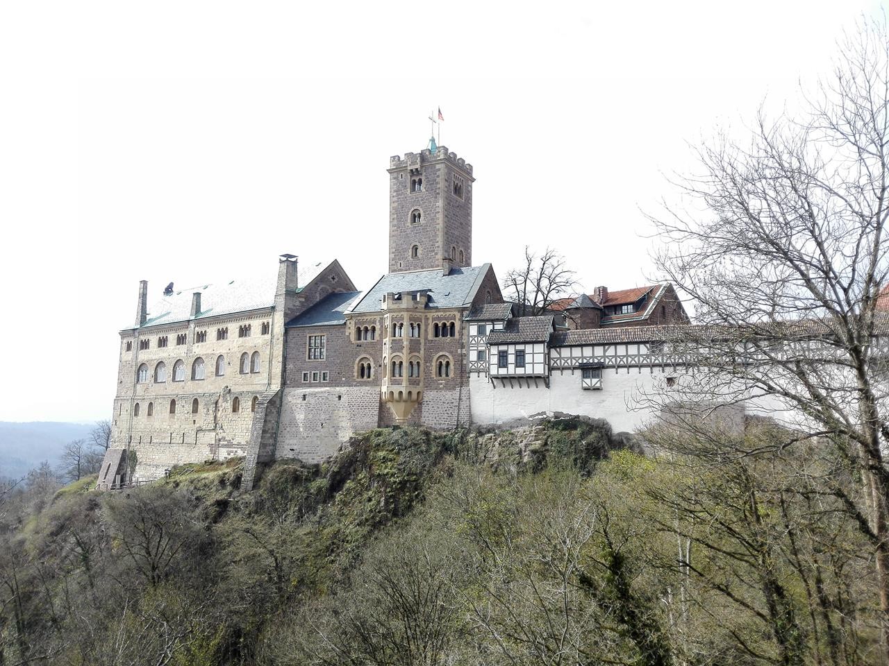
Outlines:
{"label": "tall square stone tower with crenellated top", "polygon": [[472,165],[444,146],[389,158],[389,273],[472,266]]}

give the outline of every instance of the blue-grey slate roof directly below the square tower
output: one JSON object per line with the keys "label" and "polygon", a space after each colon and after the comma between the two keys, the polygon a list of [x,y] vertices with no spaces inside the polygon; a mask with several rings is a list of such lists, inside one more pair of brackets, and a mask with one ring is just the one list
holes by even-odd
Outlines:
{"label": "blue-grey slate roof directly below the square tower", "polygon": [[428,291],[428,306],[433,308],[469,305],[490,267],[490,264],[483,264],[452,268],[447,275],[442,275],[440,270],[389,273],[383,275],[350,312],[380,312],[383,296],[403,291]]}

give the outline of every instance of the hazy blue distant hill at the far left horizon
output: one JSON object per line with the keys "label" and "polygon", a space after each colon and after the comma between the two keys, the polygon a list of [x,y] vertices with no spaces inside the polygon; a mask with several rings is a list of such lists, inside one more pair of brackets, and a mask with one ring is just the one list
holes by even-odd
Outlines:
{"label": "hazy blue distant hill at the far left horizon", "polygon": [[24,476],[44,460],[55,466],[62,448],[71,440],[85,439],[92,427],[52,421],[0,421],[0,477]]}

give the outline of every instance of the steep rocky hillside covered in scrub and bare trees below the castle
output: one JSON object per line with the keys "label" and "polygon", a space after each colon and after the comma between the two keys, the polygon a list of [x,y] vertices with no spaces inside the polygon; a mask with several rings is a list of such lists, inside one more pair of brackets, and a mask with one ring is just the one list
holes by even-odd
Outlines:
{"label": "steep rocky hillside covered in scrub and bare trees below the castle", "polygon": [[[763,492],[751,521],[737,470],[628,444],[577,419],[380,429],[327,464],[271,464],[251,493],[233,459],[124,492],[81,480],[0,496],[0,663],[765,664],[791,647],[784,662],[803,664],[829,639],[833,663],[869,662],[853,530],[819,514],[792,558],[739,563],[754,536],[786,540],[778,505]],[[813,635],[801,583],[822,536],[844,561],[820,569],[832,638]]]}

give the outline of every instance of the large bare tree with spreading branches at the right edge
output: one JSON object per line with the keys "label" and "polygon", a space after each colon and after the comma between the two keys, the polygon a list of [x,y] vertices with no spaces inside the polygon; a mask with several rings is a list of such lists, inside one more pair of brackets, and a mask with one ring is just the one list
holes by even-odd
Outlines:
{"label": "large bare tree with spreading branches at the right edge", "polygon": [[875,342],[887,333],[877,296],[889,271],[885,23],[862,23],[840,47],[804,114],[761,111],[749,142],[701,147],[701,173],[678,183],[693,205],[653,221],[665,241],[658,264],[702,324],[685,340],[699,368],[670,400],[773,410],[794,425],[774,447],[829,441],[854,473],[824,492],[873,548],[889,658],[889,413]]}

